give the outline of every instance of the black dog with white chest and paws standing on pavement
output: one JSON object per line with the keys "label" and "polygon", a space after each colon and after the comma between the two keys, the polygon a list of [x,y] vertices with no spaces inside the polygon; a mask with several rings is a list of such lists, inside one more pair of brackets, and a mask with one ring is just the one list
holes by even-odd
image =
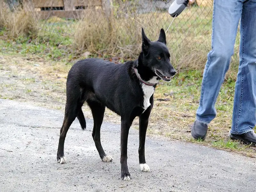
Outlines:
{"label": "black dog with white chest and paws standing on pavement", "polygon": [[170,81],[176,73],[170,63],[170,53],[166,47],[164,29],[159,39],[151,42],[142,28],[142,51],[138,60],[123,65],[100,60],[85,59],[76,62],[67,78],[67,102],[65,117],[60,129],[57,161],[66,163],[64,142],[72,122],[79,120],[82,129],[86,128],[82,106],[86,101],[92,110],[92,138],[104,162],[111,162],[111,156],[105,154],[100,143],[100,126],[105,107],[121,116],[121,178],[130,180],[127,167],[127,140],[130,126],[139,116],[139,161],[141,171],[150,171],[145,160],[145,137],[148,117],[153,107],[153,93],[156,83],[163,79]]}

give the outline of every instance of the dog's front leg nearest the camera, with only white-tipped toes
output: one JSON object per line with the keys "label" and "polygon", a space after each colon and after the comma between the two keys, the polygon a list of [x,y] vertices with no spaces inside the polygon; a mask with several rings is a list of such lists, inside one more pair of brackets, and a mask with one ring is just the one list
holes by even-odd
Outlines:
{"label": "dog's front leg nearest the camera, with only white-tipped toes", "polygon": [[127,166],[127,142],[128,142],[128,134],[129,129],[131,127],[131,122],[127,121],[126,119],[121,119],[121,179],[123,180],[130,180],[131,175],[128,171]]}

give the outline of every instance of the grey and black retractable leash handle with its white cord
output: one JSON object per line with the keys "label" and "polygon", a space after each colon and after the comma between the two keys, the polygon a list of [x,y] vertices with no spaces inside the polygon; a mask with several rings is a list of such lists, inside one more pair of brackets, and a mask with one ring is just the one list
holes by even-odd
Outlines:
{"label": "grey and black retractable leash handle with its white cord", "polygon": [[[187,7],[188,1],[189,0],[175,0],[172,2],[168,12],[173,17],[173,20]],[[166,29],[165,33],[168,31],[171,25],[172,25],[172,22],[169,25],[169,27]]]}

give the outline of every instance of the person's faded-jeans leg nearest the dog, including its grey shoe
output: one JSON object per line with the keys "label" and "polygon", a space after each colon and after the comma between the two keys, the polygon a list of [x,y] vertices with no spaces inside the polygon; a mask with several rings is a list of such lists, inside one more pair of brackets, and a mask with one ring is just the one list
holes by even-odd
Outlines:
{"label": "person's faded-jeans leg nearest the dog, including its grey shoe", "polygon": [[207,124],[216,116],[214,105],[234,53],[242,8],[241,0],[226,0],[225,2],[214,0],[213,2],[212,50],[207,56],[196,122],[191,129],[191,134],[196,139],[205,138]]}

